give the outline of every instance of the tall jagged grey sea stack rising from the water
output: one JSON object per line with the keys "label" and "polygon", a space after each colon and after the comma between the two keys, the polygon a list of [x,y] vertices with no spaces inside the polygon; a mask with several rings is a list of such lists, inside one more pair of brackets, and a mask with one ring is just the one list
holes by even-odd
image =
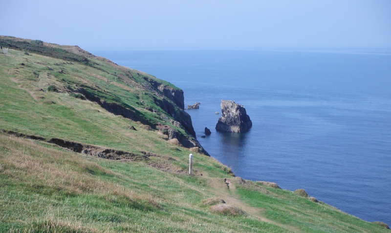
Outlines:
{"label": "tall jagged grey sea stack rising from the water", "polygon": [[231,100],[221,100],[221,117],[218,118],[216,130],[233,133],[247,132],[253,123],[241,104]]}

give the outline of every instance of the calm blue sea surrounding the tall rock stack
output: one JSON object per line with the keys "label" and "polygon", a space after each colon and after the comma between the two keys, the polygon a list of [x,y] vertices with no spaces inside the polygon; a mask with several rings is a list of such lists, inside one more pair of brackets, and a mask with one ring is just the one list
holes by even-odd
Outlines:
{"label": "calm blue sea surrounding the tall rock stack", "polygon": [[[197,138],[237,176],[391,226],[391,50],[92,51],[200,102]],[[250,132],[216,132],[221,99],[244,105]]]}

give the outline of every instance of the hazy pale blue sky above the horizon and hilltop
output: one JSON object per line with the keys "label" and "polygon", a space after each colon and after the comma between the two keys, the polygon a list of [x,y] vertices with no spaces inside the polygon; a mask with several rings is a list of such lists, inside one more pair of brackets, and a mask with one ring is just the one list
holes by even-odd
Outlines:
{"label": "hazy pale blue sky above the horizon and hilltop", "polygon": [[2,0],[0,35],[133,48],[391,47],[391,0]]}

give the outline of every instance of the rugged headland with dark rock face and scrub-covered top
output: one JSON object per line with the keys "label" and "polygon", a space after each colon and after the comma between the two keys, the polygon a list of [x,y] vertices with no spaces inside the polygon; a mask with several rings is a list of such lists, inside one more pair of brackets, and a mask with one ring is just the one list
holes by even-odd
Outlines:
{"label": "rugged headland with dark rock face and scrub-covered top", "polygon": [[[158,129],[157,126],[161,124],[173,127],[176,130],[175,136],[183,147],[189,149],[197,147],[201,153],[208,155],[195,138],[190,115],[184,111],[183,90],[173,84],[144,72],[120,66],[109,59],[97,57],[78,46],[51,44],[41,40],[9,36],[0,36],[0,44],[11,49],[25,51],[25,54],[29,51],[46,57],[60,58],[63,61],[56,63],[54,67],[47,64],[44,67],[47,70],[44,75],[34,71],[37,75],[32,76],[38,76],[36,79],[41,80],[41,83],[46,80],[47,84],[46,87],[38,86],[38,83],[34,82],[23,84],[32,95],[43,96],[43,93],[36,90],[44,90],[51,85],[57,93],[80,95],[99,104],[114,115],[140,122],[152,129]],[[28,55],[24,58],[25,62],[21,63],[22,68],[31,62],[28,58]],[[67,66],[75,66],[75,64],[84,65],[86,69],[88,67],[92,70],[84,76],[85,72],[80,71],[78,74],[73,74],[70,72],[72,68]],[[103,68],[105,66],[107,68]],[[15,74],[20,73],[18,69],[15,68]],[[96,74],[96,71],[99,74]],[[91,72],[94,72],[92,76]],[[21,75],[18,75],[17,79],[24,80],[25,78]],[[87,76],[98,79],[100,83]],[[116,93],[114,87],[120,89],[120,95]],[[123,93],[124,91],[127,93]],[[160,116],[166,116],[169,120]],[[174,121],[179,124],[173,125]]]}

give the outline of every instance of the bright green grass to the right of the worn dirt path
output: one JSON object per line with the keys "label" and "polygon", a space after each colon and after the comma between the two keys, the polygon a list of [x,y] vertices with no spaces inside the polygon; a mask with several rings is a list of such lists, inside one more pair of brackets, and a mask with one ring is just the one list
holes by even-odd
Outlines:
{"label": "bright green grass to the right of the worn dirt path", "polygon": [[[265,191],[267,190],[267,192]],[[251,206],[264,209],[273,221],[293,226],[301,232],[349,233],[383,232],[373,224],[346,214],[323,202],[315,203],[307,197],[288,190],[273,189],[255,183],[237,189],[241,199]]]}

